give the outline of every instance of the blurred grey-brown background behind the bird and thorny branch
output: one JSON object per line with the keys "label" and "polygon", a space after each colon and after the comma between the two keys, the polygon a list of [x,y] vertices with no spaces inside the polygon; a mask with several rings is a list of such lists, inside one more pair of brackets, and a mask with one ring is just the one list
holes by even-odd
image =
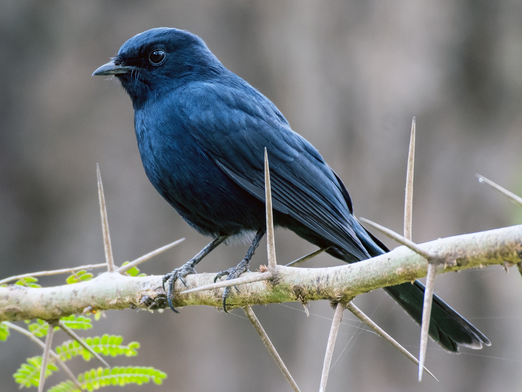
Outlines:
{"label": "blurred grey-brown background behind the bird and thorny branch", "polygon": [[[186,237],[142,269],[163,274],[207,243],[148,182],[121,86],[90,76],[128,38],[159,26],[198,34],[225,66],[274,101],[345,181],[357,216],[402,231],[417,116],[413,240],[522,223],[520,208],[474,177],[479,172],[522,194],[520,1],[1,0],[0,9],[0,278],[103,262],[97,162],[118,263]],[[276,247],[280,263],[314,250],[284,231]],[[198,272],[235,266],[246,248],[220,246]],[[263,263],[265,241],[254,269]],[[322,255],[305,265],[337,264]],[[440,381],[424,377],[419,384],[416,366],[346,313],[328,390],[520,390],[516,269],[440,275],[435,289],[491,347],[452,355],[430,341],[426,364]],[[355,303],[418,354],[420,328],[382,290]],[[310,304],[310,317],[296,303],[254,309],[302,390],[317,390],[329,304]],[[111,364],[151,365],[169,375],[162,386],[129,391],[289,390],[243,312],[232,313],[203,306],[181,315],[113,311],[85,336],[138,340],[137,358]],[[16,334],[0,343],[2,391],[16,390],[11,375],[40,354]],[[71,365],[80,372],[98,363]],[[61,373],[46,385],[62,381]]]}

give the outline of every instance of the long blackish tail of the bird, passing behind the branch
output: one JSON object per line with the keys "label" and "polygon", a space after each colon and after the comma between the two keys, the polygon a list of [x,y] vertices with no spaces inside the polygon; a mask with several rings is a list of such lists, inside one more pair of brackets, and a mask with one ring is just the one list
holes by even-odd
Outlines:
{"label": "long blackish tail of the bird, passing behind the branch", "polygon": [[[382,255],[389,249],[373,234],[366,230],[373,240],[373,244],[364,244],[372,257]],[[375,246],[377,245],[378,248]],[[352,256],[343,255],[338,248],[327,250],[332,256],[345,261],[353,261]],[[385,287],[386,292],[406,310],[417,324],[421,324],[422,304],[424,301],[424,285],[416,280],[413,284],[402,283],[396,286]],[[440,297],[433,294],[431,310],[431,322],[429,334],[431,338],[448,351],[458,352],[459,345],[472,349],[481,349],[482,344],[490,345],[491,342],[468,320],[459,315],[452,307],[446,304]]]}

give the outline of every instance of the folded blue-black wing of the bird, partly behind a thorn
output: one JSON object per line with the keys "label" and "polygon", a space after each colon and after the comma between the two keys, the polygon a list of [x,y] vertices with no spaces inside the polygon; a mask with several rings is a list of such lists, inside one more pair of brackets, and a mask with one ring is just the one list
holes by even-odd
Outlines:
{"label": "folded blue-black wing of the bird, partly behind a thorn", "polygon": [[239,186],[265,201],[266,147],[272,206],[359,260],[369,258],[346,188],[272,102],[245,84],[199,82],[178,94],[186,130]]}

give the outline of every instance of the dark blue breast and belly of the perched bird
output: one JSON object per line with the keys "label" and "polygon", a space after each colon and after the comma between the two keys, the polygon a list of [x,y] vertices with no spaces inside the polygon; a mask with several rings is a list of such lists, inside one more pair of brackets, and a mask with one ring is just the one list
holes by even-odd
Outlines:
{"label": "dark blue breast and belly of the perched bird", "polygon": [[263,204],[233,182],[180,122],[135,113],[147,177],[178,213],[203,234],[237,234],[264,222]]}

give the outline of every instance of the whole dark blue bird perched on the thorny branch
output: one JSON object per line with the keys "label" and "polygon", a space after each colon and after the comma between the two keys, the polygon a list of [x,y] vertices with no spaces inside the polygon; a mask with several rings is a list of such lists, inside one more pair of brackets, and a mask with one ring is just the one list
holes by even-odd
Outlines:
{"label": "whole dark blue bird perched on the thorny branch", "polygon": [[[175,281],[185,284],[185,276],[196,273],[196,264],[219,244],[252,239],[238,266],[219,272],[215,281],[247,271],[266,232],[265,148],[275,227],[290,229],[348,263],[389,251],[355,218],[348,190],[317,149],[292,130],[274,103],[229,71],[195,34],[175,28],[144,31],[128,39],[92,75],[120,80],[134,108],[138,149],[148,179],[190,226],[212,238],[194,258],[163,276],[174,312]],[[421,282],[384,290],[421,323]],[[225,312],[229,294],[227,287]],[[459,346],[480,349],[491,344],[437,295],[429,335],[450,352],[458,352]]]}

